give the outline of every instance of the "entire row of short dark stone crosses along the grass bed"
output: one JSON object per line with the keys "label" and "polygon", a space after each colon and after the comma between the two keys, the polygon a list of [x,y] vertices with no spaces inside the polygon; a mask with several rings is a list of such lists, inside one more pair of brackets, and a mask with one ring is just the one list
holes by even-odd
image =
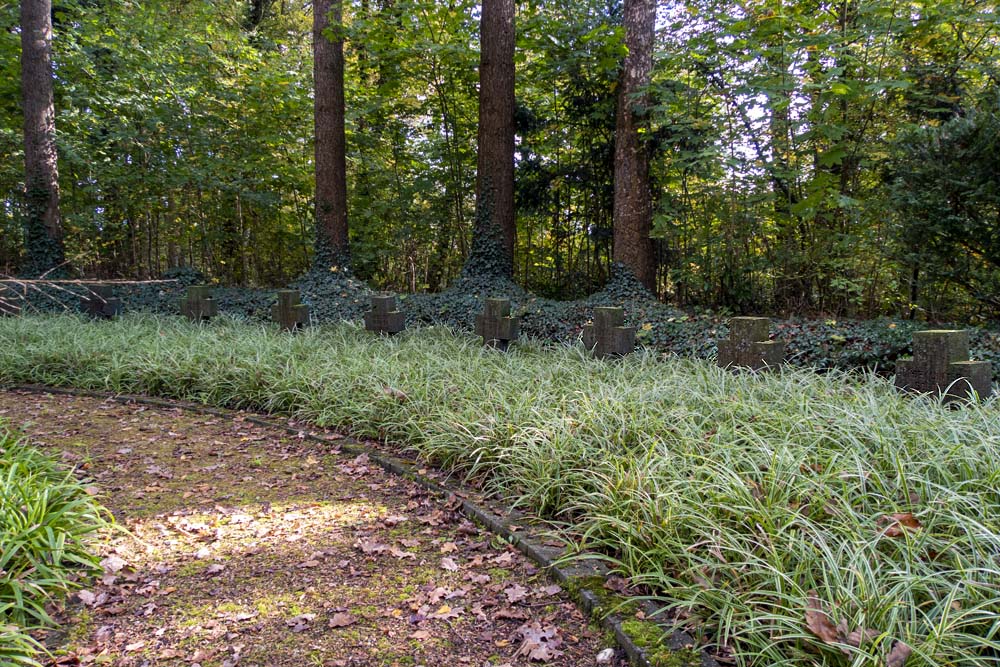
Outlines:
{"label": "entire row of short dark stone crosses along the grass bed", "polygon": [[[0,315],[19,315],[16,295],[0,286]],[[211,288],[193,285],[180,300],[180,311],[193,322],[207,322],[219,313]],[[80,299],[80,309],[94,318],[111,319],[122,312],[121,301],[108,285],[94,285]],[[280,290],[271,307],[271,318],[286,331],[309,324],[309,306],[301,302],[298,290]],[[635,349],[636,327],[624,326],[621,308],[597,307],[591,324],[583,327],[583,345],[599,359],[622,357]],[[365,329],[379,334],[397,334],[406,328],[406,315],[393,295],[371,298],[371,310],[364,314]],[[729,321],[729,338],[719,341],[718,364],[723,368],[755,371],[776,369],[784,361],[785,345],[770,339],[766,317],[734,317]],[[476,315],[475,331],[483,344],[507,350],[519,334],[519,319],[510,314],[509,299],[487,299]],[[969,332],[928,330],[913,334],[913,359],[896,365],[896,386],[915,392],[939,393],[947,399],[988,396],[992,390],[992,367],[986,361],[969,361]]]}

